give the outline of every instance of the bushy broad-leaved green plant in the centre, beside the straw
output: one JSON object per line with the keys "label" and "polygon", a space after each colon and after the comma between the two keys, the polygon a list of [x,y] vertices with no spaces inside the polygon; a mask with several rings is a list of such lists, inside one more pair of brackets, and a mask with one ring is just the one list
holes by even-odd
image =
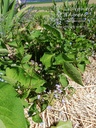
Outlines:
{"label": "bushy broad-leaved green plant in the centre, beside the straw", "polygon": [[[41,122],[39,114],[51,102],[49,97],[54,96],[55,85],[61,84],[62,90],[68,86],[65,74],[81,85],[82,79],[72,64],[74,61],[66,59],[64,38],[58,29],[44,25],[42,31],[30,31],[28,26],[24,30],[17,26],[12,33],[11,41],[10,37],[7,38],[7,48],[1,45],[1,80],[15,88],[24,106],[24,99],[32,102],[29,116]],[[5,44],[5,40],[2,43]],[[49,91],[52,91],[52,95],[48,94]]]}

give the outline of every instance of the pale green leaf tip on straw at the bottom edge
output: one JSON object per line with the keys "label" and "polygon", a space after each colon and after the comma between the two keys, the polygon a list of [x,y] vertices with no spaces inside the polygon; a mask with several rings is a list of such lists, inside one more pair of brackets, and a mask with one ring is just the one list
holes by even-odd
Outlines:
{"label": "pale green leaf tip on straw at the bottom edge", "polygon": [[60,121],[57,126],[52,126],[51,128],[72,128],[72,123],[70,121]]}

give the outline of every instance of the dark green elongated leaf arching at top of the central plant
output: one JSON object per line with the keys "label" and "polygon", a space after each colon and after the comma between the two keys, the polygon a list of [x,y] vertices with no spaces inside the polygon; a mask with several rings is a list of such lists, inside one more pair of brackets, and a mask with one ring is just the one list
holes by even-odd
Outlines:
{"label": "dark green elongated leaf arching at top of the central plant", "polygon": [[63,38],[62,33],[61,33],[58,29],[53,28],[52,26],[50,26],[50,25],[48,25],[48,24],[44,25],[44,27],[45,27],[48,31],[50,31],[55,37],[57,37],[57,38],[59,38],[59,39]]}

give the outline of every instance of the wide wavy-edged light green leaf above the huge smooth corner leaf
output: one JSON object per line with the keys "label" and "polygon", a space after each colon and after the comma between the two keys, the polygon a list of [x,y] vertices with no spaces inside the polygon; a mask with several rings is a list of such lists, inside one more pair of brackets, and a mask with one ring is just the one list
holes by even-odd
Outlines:
{"label": "wide wavy-edged light green leaf above the huge smooth corner leaf", "polygon": [[14,67],[7,68],[6,76],[3,76],[2,78],[10,84],[14,85],[16,82],[20,82],[21,85],[24,85],[25,87],[31,85],[32,88],[38,88],[37,91],[41,91],[40,86],[44,85],[45,80],[35,72],[32,72],[31,75],[32,76],[26,73],[21,67]]}

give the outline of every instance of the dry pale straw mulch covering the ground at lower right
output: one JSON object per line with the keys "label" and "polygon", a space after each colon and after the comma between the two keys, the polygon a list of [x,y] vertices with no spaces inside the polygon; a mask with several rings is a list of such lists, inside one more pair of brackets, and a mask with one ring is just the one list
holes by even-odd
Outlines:
{"label": "dry pale straw mulch covering the ground at lower right", "polygon": [[91,64],[83,74],[84,87],[70,80],[75,93],[66,90],[66,95],[59,96],[53,106],[42,114],[43,123],[36,124],[31,118],[30,128],[50,128],[54,123],[71,120],[73,128],[96,128],[96,58],[90,58]]}

